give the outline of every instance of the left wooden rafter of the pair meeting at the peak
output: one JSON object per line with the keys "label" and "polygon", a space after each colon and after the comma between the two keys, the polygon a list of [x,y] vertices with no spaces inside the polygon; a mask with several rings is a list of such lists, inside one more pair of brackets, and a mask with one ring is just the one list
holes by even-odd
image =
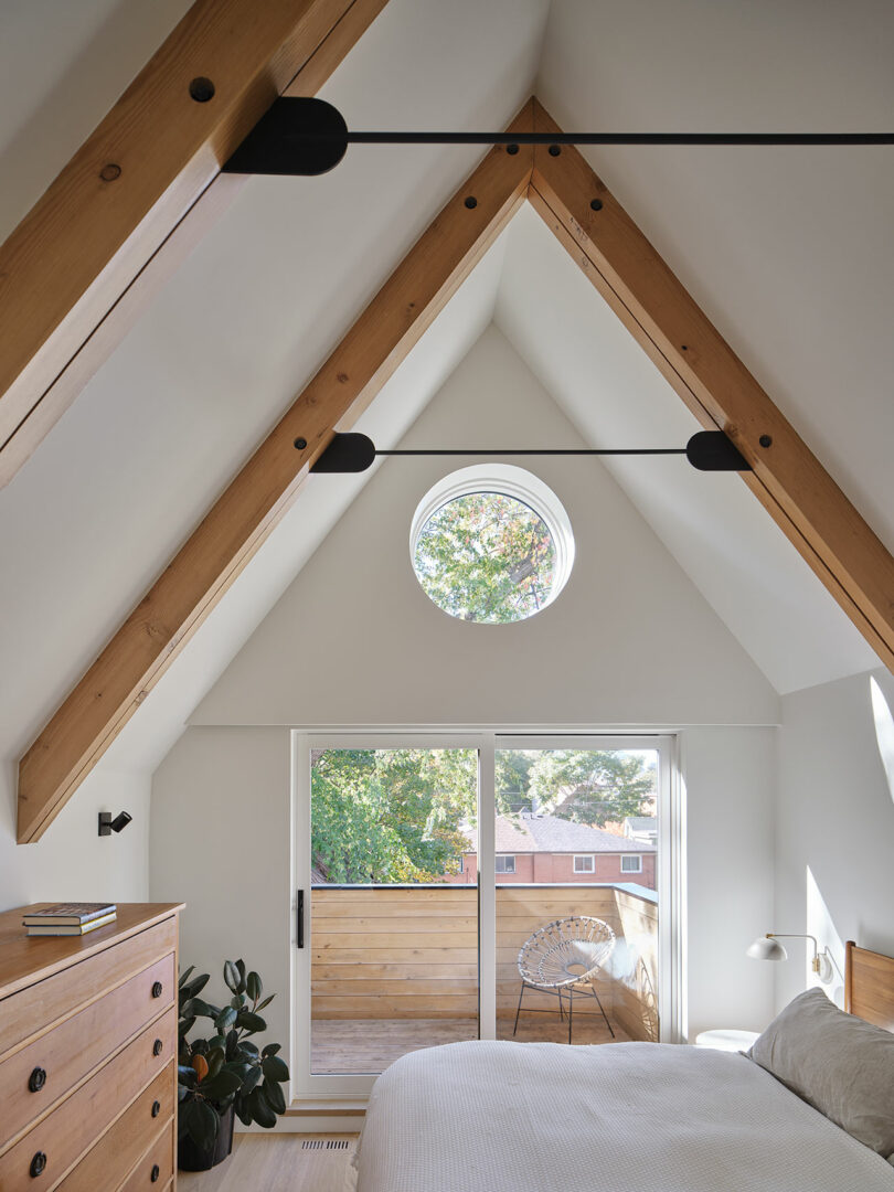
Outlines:
{"label": "left wooden rafter of the pair meeting at the peak", "polygon": [[[529,129],[530,113],[509,128]],[[524,201],[532,164],[530,149],[486,155],[62,702],[19,763],[19,844],[39,839],[291,507],[336,423],[353,423],[471,273]]]}

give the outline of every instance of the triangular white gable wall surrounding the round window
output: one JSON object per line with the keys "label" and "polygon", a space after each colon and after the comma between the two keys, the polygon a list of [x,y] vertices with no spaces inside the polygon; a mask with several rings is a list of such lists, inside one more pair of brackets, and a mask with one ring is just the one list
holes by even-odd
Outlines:
{"label": "triangular white gable wall surrounding the round window", "polygon": [[[582,446],[495,327],[402,440],[470,443]],[[465,462],[387,460],[192,722],[776,722],[775,690],[595,459],[532,465],[575,533],[554,603],[517,625],[442,613],[412,572],[410,522],[435,480]]]}

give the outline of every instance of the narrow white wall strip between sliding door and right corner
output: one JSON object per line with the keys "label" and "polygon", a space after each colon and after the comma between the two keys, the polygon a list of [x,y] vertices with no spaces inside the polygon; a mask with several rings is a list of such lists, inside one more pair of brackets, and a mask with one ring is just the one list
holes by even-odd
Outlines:
{"label": "narrow white wall strip between sliding door and right corner", "polygon": [[774,966],[745,949],[774,912],[774,728],[681,733],[687,797],[689,1038],[714,1028],[763,1030]]}

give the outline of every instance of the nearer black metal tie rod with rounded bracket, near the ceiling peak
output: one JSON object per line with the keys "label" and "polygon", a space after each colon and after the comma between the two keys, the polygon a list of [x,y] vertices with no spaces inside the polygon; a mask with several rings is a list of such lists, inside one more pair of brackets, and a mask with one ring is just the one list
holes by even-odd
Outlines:
{"label": "nearer black metal tie rod with rounded bracket, near the ceiling peak", "polygon": [[[213,83],[207,79],[193,80]],[[197,97],[193,95],[195,99]],[[548,145],[880,145],[890,132],[350,132],[341,112],[311,95],[274,99],[242,144],[223,164],[232,174],[325,174],[349,144]]]}

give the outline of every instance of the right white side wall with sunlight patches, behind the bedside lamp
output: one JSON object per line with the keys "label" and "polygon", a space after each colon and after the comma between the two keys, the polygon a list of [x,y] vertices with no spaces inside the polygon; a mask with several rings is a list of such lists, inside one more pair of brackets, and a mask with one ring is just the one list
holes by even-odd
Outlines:
{"label": "right white side wall with sunlight patches, behind the bedside lamp", "polygon": [[[894,709],[894,678],[873,672]],[[882,766],[868,673],[787,695],[780,731],[775,929],[811,932],[844,968],[855,939],[894,955],[894,790]],[[791,940],[776,969],[780,1006],[808,983]],[[828,987],[840,1001],[842,980]]]}

